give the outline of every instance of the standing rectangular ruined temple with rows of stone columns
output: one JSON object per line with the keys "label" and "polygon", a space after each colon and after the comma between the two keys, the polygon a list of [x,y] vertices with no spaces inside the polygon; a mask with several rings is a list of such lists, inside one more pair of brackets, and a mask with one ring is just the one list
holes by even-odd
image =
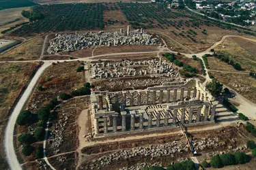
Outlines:
{"label": "standing rectangular ruined temple with rows of stone columns", "polygon": [[93,92],[96,136],[214,122],[216,102],[197,80],[164,83],[146,90]]}

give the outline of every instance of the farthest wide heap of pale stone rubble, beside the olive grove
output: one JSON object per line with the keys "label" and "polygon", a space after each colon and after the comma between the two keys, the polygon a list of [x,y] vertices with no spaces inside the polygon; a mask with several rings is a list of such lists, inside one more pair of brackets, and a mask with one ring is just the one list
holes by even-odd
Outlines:
{"label": "farthest wide heap of pale stone rubble, beside the olive grove", "polygon": [[145,31],[130,31],[127,36],[120,32],[98,33],[76,33],[76,34],[57,34],[54,39],[49,41],[47,52],[54,54],[57,52],[68,52],[81,50],[91,46],[147,46],[159,45],[160,38],[154,37]]}

